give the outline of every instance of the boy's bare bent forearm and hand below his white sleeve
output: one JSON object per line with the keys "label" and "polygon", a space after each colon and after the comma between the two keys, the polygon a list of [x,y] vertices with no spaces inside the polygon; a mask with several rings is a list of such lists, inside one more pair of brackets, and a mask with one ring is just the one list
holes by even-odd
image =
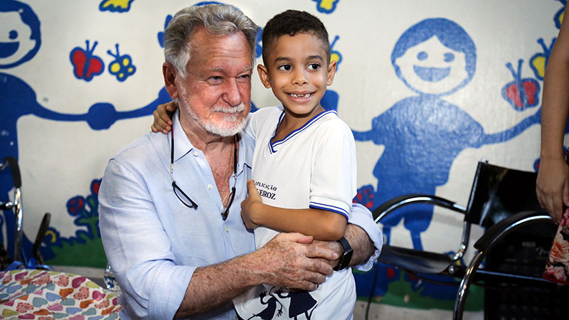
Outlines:
{"label": "boy's bare bent forearm and hand below his white sleeve", "polygon": [[264,225],[285,233],[312,235],[317,240],[339,240],[346,231],[347,217],[314,208],[285,209],[262,203],[255,182],[247,181],[249,196],[241,203],[241,217],[247,228]]}

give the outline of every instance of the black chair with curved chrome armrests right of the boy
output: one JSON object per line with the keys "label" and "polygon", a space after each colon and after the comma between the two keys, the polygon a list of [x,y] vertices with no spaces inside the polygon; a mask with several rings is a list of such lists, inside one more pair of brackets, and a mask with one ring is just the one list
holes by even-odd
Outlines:
{"label": "black chair with curved chrome armrests right of the boy", "polygon": [[[546,242],[551,246],[555,233],[555,225],[544,209],[539,206],[536,198],[536,177],[534,172],[507,169],[479,162],[469,201],[466,207],[459,206],[452,201],[432,195],[412,194],[393,198],[373,211],[376,223],[380,223],[385,216],[403,206],[414,203],[430,203],[434,206],[450,209],[452,212],[464,215],[462,226],[462,240],[458,245],[457,253],[450,256],[438,252],[427,252],[404,247],[384,245],[380,262],[399,267],[417,277],[432,281],[430,274],[442,274],[460,279],[457,299],[454,306],[454,319],[462,319],[464,302],[469,285],[473,282],[484,282],[484,286],[491,287],[497,281],[516,284],[548,283],[538,274],[516,272],[516,270],[490,270],[491,265],[482,261],[488,257],[489,250],[504,239],[506,235],[533,223],[546,223]],[[472,224],[481,225],[485,233],[474,245],[477,253],[468,267],[461,265],[460,260],[467,250]],[[533,237],[533,236],[532,236]],[[529,240],[533,240],[530,238]],[[549,247],[546,247],[548,250]],[[541,252],[547,255],[547,252]],[[541,271],[545,261],[541,265]],[[539,268],[538,268],[539,269]],[[452,280],[452,279],[451,279]],[[452,281],[451,281],[452,283]],[[445,284],[448,284],[445,283]],[[486,292],[486,290],[485,290]],[[486,309],[486,306],[485,306]],[[486,317],[486,319],[488,319]]]}

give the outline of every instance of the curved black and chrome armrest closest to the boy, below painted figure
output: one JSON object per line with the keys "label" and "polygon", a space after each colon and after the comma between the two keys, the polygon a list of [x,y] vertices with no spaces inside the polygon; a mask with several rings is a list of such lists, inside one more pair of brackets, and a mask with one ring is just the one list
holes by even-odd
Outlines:
{"label": "curved black and chrome armrest closest to the boy, below painted figure", "polygon": [[412,203],[429,203],[434,206],[440,206],[462,214],[466,213],[466,208],[459,206],[456,203],[445,198],[427,194],[408,194],[405,196],[398,196],[382,203],[381,206],[378,206],[376,208],[376,210],[373,210],[373,220],[375,220],[376,223],[381,222],[381,220],[385,218],[386,215],[393,212],[393,210],[410,205]]}

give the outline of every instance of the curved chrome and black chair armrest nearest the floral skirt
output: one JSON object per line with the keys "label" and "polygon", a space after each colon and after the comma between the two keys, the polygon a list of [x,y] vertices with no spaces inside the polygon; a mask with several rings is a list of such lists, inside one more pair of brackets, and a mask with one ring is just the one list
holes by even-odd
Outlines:
{"label": "curved chrome and black chair armrest nearest the floral skirt", "polygon": [[544,221],[555,223],[548,213],[542,211],[523,211],[521,213],[516,213],[515,215],[510,215],[508,218],[505,218],[504,220],[499,221],[499,223],[488,228],[484,235],[474,243],[474,247],[477,250],[489,250],[501,238],[504,238],[504,236],[523,225]]}

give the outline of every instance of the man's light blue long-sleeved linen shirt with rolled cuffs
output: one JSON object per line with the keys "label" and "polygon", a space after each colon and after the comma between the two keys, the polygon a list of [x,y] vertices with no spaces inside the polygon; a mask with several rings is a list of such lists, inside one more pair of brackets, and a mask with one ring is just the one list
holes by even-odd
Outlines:
{"label": "man's light blue long-sleeved linen shirt with rolled cuffs", "polygon": [[[170,176],[170,134],[149,133],[109,161],[99,191],[100,230],[105,253],[123,294],[121,319],[172,319],[197,267],[213,265],[255,250],[245,229],[240,203],[247,196],[254,140],[240,134],[235,199],[227,220],[216,181],[203,152],[174,127],[174,179],[198,204],[188,208],[176,198]],[[230,178],[230,187],[234,183]],[[369,210],[354,206],[349,223],[373,240],[376,252],[359,270],[369,270],[383,238]],[[234,319],[231,302],[192,319]]]}

